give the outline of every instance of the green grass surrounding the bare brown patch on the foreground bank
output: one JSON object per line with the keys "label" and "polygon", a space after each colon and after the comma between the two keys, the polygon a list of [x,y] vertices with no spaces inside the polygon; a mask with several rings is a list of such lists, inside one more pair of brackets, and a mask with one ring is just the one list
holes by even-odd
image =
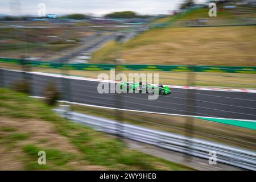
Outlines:
{"label": "green grass surrounding the bare brown patch on the foreground bank", "polygon": [[[186,170],[191,169],[180,164],[167,162],[131,150],[121,140],[99,133],[77,123],[67,121],[55,114],[51,107],[44,102],[29,98],[26,94],[17,93],[9,89],[0,89],[0,117],[22,117],[42,119],[55,126],[57,133],[68,138],[69,141],[81,152],[74,156],[65,151],[54,148],[40,148],[35,144],[23,146],[22,150],[27,154],[25,169],[63,169],[68,162],[75,159],[86,160],[90,165],[104,166],[107,169],[142,169],[142,170]],[[9,139],[26,139],[26,135],[7,135]],[[54,140],[54,139],[53,139]],[[38,150],[45,150],[47,159],[51,165],[39,166],[36,164]],[[67,168],[65,168],[67,169]]]}

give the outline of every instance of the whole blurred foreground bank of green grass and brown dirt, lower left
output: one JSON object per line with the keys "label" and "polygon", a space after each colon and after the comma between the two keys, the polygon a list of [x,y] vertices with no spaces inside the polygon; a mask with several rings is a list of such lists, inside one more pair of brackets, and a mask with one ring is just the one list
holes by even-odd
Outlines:
{"label": "whole blurred foreground bank of green grass and brown dirt, lower left", "polygon": [[[187,170],[55,114],[44,102],[0,89],[0,169]],[[38,151],[46,165],[38,165]]]}

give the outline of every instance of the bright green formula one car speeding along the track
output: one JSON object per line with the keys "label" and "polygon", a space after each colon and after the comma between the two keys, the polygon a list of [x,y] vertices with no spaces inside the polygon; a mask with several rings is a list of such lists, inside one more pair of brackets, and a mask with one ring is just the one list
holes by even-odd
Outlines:
{"label": "bright green formula one car speeding along the track", "polygon": [[126,93],[158,93],[159,95],[167,95],[171,93],[171,90],[170,88],[168,88],[168,86],[154,86],[150,84],[143,84],[142,82],[122,82],[122,84],[120,85],[120,89],[122,89],[123,92]]}

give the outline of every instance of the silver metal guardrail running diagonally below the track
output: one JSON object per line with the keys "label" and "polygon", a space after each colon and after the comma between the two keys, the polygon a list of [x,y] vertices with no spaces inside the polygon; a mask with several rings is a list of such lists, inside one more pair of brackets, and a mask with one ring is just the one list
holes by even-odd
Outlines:
{"label": "silver metal guardrail running diagonally below the track", "polygon": [[110,119],[80,114],[64,109],[54,110],[63,117],[67,117],[75,122],[84,123],[97,131],[122,135],[127,139],[152,144],[167,150],[183,152],[204,159],[209,159],[209,152],[214,151],[217,153],[217,162],[244,169],[256,170],[256,152],[254,151],[243,150],[241,148],[209,142],[203,139],[188,138],[179,134],[148,129],[127,123],[119,123]]}

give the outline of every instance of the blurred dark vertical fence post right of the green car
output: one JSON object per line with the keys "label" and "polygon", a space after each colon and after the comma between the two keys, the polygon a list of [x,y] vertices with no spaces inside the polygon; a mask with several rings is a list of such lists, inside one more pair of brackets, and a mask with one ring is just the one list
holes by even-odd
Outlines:
{"label": "blurred dark vertical fence post right of the green car", "polygon": [[[196,73],[195,73],[195,66],[190,65],[189,70],[187,73],[187,85],[193,86],[194,81],[196,79]],[[186,113],[187,115],[193,115],[195,111],[195,94],[196,90],[188,88],[187,89],[187,100],[186,100]],[[185,123],[185,136],[187,137],[187,146],[185,151],[185,161],[191,162],[192,156],[192,138],[193,138],[193,131],[194,131],[194,118],[193,117],[186,117],[186,123]]]}

